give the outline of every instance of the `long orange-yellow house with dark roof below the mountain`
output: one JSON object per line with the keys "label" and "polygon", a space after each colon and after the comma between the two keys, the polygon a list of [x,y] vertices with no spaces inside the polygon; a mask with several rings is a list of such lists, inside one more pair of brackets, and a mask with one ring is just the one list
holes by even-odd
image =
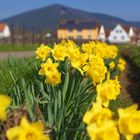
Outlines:
{"label": "long orange-yellow house with dark roof below the mountain", "polygon": [[99,26],[93,21],[66,21],[59,24],[58,39],[96,40]]}

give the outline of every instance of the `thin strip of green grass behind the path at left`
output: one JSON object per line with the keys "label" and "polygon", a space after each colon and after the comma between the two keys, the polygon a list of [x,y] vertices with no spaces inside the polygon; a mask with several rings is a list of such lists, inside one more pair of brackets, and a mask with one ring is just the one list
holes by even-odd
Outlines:
{"label": "thin strip of green grass behind the path at left", "polygon": [[21,44],[15,44],[15,45],[0,45],[0,51],[2,52],[8,52],[8,51],[33,51],[36,50],[38,47],[37,44],[35,45],[21,45]]}

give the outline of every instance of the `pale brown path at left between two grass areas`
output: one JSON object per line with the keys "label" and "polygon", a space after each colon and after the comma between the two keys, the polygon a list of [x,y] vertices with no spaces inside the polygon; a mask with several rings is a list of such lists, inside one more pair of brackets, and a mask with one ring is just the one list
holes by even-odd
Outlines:
{"label": "pale brown path at left between two grass areas", "polygon": [[0,59],[6,59],[10,56],[14,57],[30,57],[34,56],[35,52],[34,51],[22,51],[22,52],[0,52]]}

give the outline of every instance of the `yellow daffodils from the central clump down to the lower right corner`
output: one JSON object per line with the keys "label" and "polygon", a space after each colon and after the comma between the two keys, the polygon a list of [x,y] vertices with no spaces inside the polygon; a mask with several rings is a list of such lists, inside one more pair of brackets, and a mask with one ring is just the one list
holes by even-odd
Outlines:
{"label": "yellow daffodils from the central clump down to the lower right corner", "polygon": [[[123,71],[126,64],[122,58],[115,61],[118,57],[116,46],[89,42],[78,47],[69,40],[55,44],[53,49],[41,45],[36,54],[37,58],[43,61],[39,74],[46,76],[46,83],[51,85],[61,83],[59,64],[66,59],[72,68],[92,80],[97,92],[96,102],[92,104],[91,109],[83,117],[83,121],[87,124],[87,132],[92,140],[111,140],[112,138],[119,140],[120,133],[131,140],[133,134],[140,133],[138,127],[140,125],[140,111],[137,111],[136,105],[119,109],[118,119],[114,119],[114,113],[108,108],[109,102],[115,100],[120,94],[121,88],[118,76],[111,79],[110,71],[116,67],[119,71]],[[109,61],[108,65],[105,60]],[[131,112],[133,115],[130,114]]]}

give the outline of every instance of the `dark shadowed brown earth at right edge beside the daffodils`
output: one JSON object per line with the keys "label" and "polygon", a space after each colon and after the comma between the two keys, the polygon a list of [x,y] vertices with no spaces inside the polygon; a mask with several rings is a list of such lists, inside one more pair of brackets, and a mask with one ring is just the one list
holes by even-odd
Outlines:
{"label": "dark shadowed brown earth at right edge beside the daffodils", "polygon": [[121,74],[122,94],[140,106],[140,68],[126,58],[126,70]]}

